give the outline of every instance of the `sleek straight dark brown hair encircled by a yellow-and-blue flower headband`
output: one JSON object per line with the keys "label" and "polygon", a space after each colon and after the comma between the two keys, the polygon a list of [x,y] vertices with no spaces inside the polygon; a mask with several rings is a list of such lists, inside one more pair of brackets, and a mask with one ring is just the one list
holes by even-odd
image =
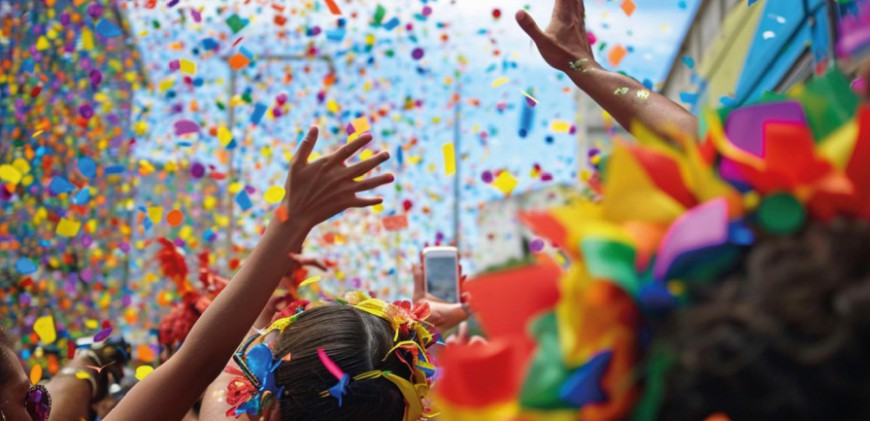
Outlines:
{"label": "sleek straight dark brown hair encircled by a yellow-and-blue flower headband", "polygon": [[291,354],[291,360],[275,373],[278,387],[284,388],[282,420],[401,421],[405,400],[399,389],[383,378],[351,381],[341,407],[337,399],[320,395],[337,380],[317,356],[318,348],[351,377],[384,370],[410,379],[411,370],[402,359],[412,364],[411,356],[405,351],[387,356],[393,347],[393,334],[386,320],[351,306],[328,305],[301,313],[278,339],[275,349],[277,355]]}

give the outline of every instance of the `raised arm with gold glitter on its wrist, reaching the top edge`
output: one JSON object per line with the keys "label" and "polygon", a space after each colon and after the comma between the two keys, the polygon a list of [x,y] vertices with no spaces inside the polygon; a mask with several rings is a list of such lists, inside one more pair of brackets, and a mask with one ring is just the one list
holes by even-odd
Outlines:
{"label": "raised arm with gold glitter on its wrist, reaching the top edge", "polygon": [[544,60],[565,72],[626,130],[637,121],[666,137],[675,130],[696,133],[698,120],[683,107],[630,77],[608,72],[595,61],[586,35],[585,12],[583,0],[556,0],[546,31],[525,11],[517,12],[516,18]]}

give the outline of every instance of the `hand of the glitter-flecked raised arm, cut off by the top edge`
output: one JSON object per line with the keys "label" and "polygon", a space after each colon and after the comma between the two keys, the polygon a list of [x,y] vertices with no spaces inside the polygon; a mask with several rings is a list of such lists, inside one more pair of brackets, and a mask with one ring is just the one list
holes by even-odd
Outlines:
{"label": "hand of the glitter-flecked raised arm, cut off by the top edge", "polygon": [[524,10],[517,12],[516,19],[538,46],[547,64],[562,71],[582,69],[597,66],[586,35],[585,9],[583,0],[556,0],[546,31],[541,31]]}

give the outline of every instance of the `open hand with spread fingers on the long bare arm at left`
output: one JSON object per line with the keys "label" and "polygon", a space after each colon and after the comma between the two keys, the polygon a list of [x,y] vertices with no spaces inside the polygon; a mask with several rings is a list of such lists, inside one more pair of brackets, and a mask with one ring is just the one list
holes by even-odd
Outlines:
{"label": "open hand with spread fingers on the long bare arm at left", "polygon": [[347,166],[345,161],[371,142],[372,136],[364,134],[335,152],[314,162],[308,162],[311,151],[317,143],[318,130],[312,127],[299,146],[285,188],[287,197],[284,205],[288,216],[306,228],[341,213],[348,208],[361,208],[382,202],[380,197],[361,198],[357,193],[372,190],[391,183],[392,174],[383,174],[363,181],[356,178],[365,175],[390,158],[388,152],[381,152],[363,162]]}

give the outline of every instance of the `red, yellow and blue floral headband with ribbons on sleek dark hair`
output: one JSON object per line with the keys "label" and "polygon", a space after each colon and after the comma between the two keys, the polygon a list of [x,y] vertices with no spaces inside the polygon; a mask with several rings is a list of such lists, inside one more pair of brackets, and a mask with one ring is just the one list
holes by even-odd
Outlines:
{"label": "red, yellow and blue floral headband with ribbons on sleek dark hair", "polygon": [[[435,366],[430,362],[427,348],[438,340],[438,336],[433,335],[424,322],[429,316],[428,305],[412,307],[407,301],[389,304],[363,292],[348,293],[345,299],[336,299],[335,303],[351,305],[389,322],[395,332],[394,346],[382,361],[386,361],[397,350],[406,350],[413,358],[411,361],[403,361],[411,368],[413,376],[405,379],[382,370],[351,376],[341,370],[322,348],[318,348],[318,357],[337,380],[334,386],[320,393],[321,397],[333,397],[341,407],[351,381],[383,378],[393,383],[404,396],[407,403],[405,421],[434,416],[434,411],[423,405],[423,398],[428,395],[431,379],[435,375]],[[297,313],[274,321],[267,329],[248,338],[233,355],[233,361],[241,370],[241,375],[227,386],[227,403],[231,407],[227,416],[238,418],[242,414],[262,415],[263,409],[284,393],[283,387],[275,382],[275,371],[282,362],[289,361],[289,354],[287,357],[276,357],[269,346],[262,342],[251,346],[272,332],[283,333],[304,311],[302,307],[297,307],[297,310]]]}

